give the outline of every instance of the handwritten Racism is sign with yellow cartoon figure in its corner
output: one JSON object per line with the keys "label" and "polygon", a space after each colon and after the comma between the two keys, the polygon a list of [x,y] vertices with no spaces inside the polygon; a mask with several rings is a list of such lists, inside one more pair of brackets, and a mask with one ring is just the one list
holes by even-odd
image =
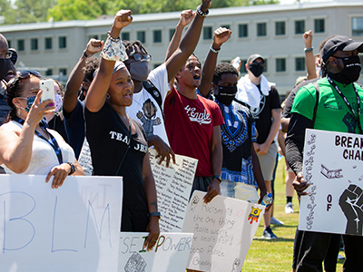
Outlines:
{"label": "handwritten Racism is sign with yellow cartoon figure in its corner", "polygon": [[193,232],[188,268],[201,271],[240,271],[259,227],[264,207],[217,196],[203,202],[194,191],[182,231]]}

